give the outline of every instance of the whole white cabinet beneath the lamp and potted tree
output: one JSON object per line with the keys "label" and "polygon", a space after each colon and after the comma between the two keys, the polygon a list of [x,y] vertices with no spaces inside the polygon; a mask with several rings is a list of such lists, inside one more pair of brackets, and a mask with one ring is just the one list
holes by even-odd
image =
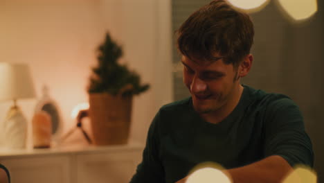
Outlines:
{"label": "whole white cabinet beneath the lamp and potted tree", "polygon": [[48,150],[0,150],[0,163],[12,183],[129,182],[143,146],[105,146]]}

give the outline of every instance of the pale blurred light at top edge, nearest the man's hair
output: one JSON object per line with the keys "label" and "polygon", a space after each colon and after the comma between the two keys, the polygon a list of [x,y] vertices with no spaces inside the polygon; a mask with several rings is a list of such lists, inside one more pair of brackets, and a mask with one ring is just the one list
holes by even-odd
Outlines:
{"label": "pale blurred light at top edge, nearest the man's hair", "polygon": [[228,0],[233,6],[246,10],[248,12],[256,12],[264,8],[269,0]]}

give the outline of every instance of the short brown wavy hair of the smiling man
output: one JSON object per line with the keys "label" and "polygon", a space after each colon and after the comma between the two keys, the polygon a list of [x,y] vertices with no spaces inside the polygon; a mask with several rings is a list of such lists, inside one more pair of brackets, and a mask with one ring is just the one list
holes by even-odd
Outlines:
{"label": "short brown wavy hair of the smiling man", "polygon": [[237,66],[248,55],[254,29],[249,15],[224,0],[199,8],[177,30],[177,47],[192,60],[218,60]]}

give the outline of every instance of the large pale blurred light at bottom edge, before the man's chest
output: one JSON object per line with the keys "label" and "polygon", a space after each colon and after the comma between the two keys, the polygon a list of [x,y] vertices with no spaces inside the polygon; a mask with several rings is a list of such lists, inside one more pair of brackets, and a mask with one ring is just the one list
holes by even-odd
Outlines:
{"label": "large pale blurred light at bottom edge, before the man's chest", "polygon": [[231,180],[223,173],[216,168],[201,168],[191,175],[189,175],[186,183],[231,183]]}

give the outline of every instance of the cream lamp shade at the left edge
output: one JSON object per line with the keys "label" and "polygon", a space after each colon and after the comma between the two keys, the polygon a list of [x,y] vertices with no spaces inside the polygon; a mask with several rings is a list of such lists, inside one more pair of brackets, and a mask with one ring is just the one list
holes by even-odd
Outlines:
{"label": "cream lamp shade at the left edge", "polygon": [[0,62],[0,101],[35,97],[27,64]]}

